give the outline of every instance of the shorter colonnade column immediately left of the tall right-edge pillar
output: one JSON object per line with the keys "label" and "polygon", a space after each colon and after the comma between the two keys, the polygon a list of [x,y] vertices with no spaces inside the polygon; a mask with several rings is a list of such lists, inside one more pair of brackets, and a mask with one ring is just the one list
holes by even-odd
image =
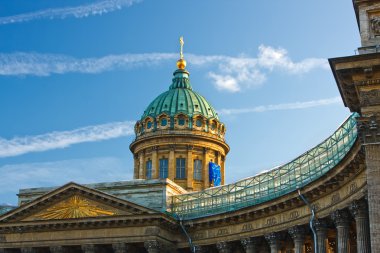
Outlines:
{"label": "shorter colonnade column immediately left of the tall right-edge pillar", "polygon": [[358,253],[370,253],[368,205],[364,199],[355,200],[351,203],[350,212],[356,223],[356,245]]}

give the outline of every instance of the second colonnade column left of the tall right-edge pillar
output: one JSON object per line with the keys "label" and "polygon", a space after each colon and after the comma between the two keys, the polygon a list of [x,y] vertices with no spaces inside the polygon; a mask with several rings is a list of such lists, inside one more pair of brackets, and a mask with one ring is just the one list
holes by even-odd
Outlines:
{"label": "second colonnade column left of the tall right-edge pillar", "polygon": [[348,252],[348,239],[350,236],[350,215],[347,210],[336,210],[331,214],[337,231],[337,253]]}

